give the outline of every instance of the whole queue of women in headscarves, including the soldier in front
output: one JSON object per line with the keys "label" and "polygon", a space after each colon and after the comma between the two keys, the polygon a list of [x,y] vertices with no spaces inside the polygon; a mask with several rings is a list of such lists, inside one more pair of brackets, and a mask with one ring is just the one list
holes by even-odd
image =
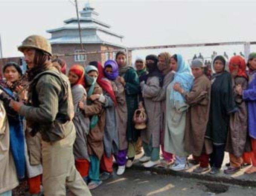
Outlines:
{"label": "whole queue of women in headscarves, including the soldier in front", "polygon": [[215,175],[226,151],[226,174],[244,165],[256,172],[256,53],[247,63],[216,55],[209,79],[201,58],[189,65],[181,54],[137,58],[134,69],[119,51],[66,73],[44,37],[29,36],[18,49],[27,72],[8,63],[0,83],[0,196],[24,178],[31,195],[90,195],[113,175],[113,160],[123,175],[140,148],[145,168],[178,172],[190,162]]}

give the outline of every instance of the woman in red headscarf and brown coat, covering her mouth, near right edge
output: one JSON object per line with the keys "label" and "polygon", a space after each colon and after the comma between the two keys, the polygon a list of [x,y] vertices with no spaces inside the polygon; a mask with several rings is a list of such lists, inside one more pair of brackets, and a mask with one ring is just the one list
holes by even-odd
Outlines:
{"label": "woman in red headscarf and brown coat, covering her mouth, near right edge", "polygon": [[227,136],[226,151],[229,152],[230,167],[224,173],[231,174],[239,171],[243,160],[243,153],[251,151],[247,131],[247,104],[242,96],[237,94],[235,87],[241,85],[247,89],[248,76],[245,73],[246,63],[243,57],[236,55],[229,61],[229,70],[232,76],[233,94],[238,112],[230,114],[230,125]]}

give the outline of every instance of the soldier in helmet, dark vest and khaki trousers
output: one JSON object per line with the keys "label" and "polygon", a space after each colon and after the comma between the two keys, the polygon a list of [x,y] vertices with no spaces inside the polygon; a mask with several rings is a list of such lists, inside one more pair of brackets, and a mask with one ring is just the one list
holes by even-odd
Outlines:
{"label": "soldier in helmet, dark vest and khaki trousers", "polygon": [[91,195],[75,168],[73,144],[75,126],[68,78],[51,63],[52,48],[47,39],[32,35],[18,50],[29,68],[29,103],[11,101],[11,107],[27,120],[34,135],[42,135],[44,195],[66,195],[67,185],[75,195]]}

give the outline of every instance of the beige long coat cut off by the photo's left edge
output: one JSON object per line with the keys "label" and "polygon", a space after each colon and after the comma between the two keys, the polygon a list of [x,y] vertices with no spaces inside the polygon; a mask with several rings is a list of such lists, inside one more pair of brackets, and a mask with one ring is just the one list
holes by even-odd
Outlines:
{"label": "beige long coat cut off by the photo's left edge", "polygon": [[0,102],[0,194],[18,186],[19,181],[10,149],[9,124]]}

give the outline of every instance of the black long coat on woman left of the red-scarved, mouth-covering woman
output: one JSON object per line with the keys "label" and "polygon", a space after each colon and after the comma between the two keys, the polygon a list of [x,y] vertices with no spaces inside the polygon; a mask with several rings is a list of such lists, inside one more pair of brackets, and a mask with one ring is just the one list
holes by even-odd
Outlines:
{"label": "black long coat on woman left of the red-scarved, mouth-covering woman", "polygon": [[226,144],[229,115],[236,111],[232,79],[229,72],[218,74],[212,83],[206,137],[214,144]]}

